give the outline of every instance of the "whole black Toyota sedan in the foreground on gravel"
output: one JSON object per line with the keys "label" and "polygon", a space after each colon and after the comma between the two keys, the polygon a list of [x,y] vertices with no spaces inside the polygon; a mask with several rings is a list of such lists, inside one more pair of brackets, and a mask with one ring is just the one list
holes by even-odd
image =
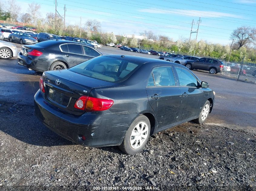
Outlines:
{"label": "whole black Toyota sedan in the foreground on gravel", "polygon": [[167,61],[104,55],[44,72],[35,114],[52,131],[86,147],[119,145],[136,154],[150,135],[211,113],[214,91]]}

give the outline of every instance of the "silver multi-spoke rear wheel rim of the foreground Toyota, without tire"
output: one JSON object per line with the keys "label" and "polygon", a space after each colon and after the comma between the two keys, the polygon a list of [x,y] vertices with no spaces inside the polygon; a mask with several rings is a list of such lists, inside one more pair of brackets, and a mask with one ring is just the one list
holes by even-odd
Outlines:
{"label": "silver multi-spoke rear wheel rim of the foreground Toyota, without tire", "polygon": [[148,125],[145,122],[138,123],[131,132],[130,145],[133,149],[140,148],[148,137]]}

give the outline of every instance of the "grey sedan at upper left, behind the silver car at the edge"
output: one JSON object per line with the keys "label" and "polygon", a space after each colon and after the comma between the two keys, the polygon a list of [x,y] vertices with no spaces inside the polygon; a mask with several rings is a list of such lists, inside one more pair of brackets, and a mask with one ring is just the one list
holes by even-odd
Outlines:
{"label": "grey sedan at upper left, behind the silver car at the edge", "polygon": [[19,42],[21,44],[35,44],[38,41],[31,35],[22,32],[14,32],[9,35],[10,42]]}

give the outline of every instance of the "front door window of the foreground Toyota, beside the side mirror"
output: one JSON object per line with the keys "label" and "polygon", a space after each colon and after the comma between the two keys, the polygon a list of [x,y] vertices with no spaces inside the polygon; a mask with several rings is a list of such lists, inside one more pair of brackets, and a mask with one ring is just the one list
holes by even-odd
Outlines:
{"label": "front door window of the foreground Toyota, beside the side mirror", "polygon": [[197,87],[197,79],[187,70],[175,67],[180,81],[180,86]]}

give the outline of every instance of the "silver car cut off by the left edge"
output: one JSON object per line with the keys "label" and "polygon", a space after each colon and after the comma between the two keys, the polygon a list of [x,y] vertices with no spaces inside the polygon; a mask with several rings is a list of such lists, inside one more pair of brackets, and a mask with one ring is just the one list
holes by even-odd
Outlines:
{"label": "silver car cut off by the left edge", "polygon": [[0,41],[0,58],[9,59],[18,56],[17,47],[12,43]]}

